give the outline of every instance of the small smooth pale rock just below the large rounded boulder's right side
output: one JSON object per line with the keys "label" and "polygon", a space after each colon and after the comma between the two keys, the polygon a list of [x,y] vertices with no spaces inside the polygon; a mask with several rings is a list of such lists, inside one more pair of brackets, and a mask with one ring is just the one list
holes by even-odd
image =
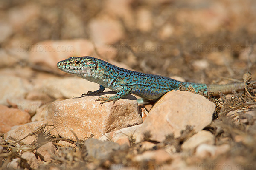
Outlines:
{"label": "small smooth pale rock just below the large rounded boulder's right side", "polygon": [[206,130],[201,130],[195,135],[191,136],[188,140],[186,140],[181,148],[183,150],[192,150],[198,147],[200,144],[214,144],[214,135]]}

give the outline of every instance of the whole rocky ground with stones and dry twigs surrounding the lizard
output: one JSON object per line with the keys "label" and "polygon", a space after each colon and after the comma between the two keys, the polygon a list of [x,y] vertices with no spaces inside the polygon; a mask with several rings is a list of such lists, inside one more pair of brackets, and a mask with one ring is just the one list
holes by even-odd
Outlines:
{"label": "whole rocky ground with stones and dry twigs surrounding the lizard", "polygon": [[99,85],[56,67],[89,55],[180,81],[255,80],[255,16],[253,0],[1,0],[0,169],[256,169],[253,94],[101,106],[113,92],[73,99]]}

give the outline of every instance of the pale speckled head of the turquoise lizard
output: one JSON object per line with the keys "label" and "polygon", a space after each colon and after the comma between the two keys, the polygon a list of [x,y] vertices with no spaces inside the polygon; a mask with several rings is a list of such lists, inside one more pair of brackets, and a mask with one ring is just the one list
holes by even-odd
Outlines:
{"label": "pale speckled head of the turquoise lizard", "polygon": [[58,69],[69,74],[87,77],[98,68],[98,61],[90,56],[70,57],[57,63]]}

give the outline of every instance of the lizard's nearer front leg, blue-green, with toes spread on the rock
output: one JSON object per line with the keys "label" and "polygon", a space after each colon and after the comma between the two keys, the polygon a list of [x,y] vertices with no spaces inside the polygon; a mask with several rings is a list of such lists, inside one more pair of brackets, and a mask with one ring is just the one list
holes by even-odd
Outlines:
{"label": "lizard's nearer front leg, blue-green, with toes spread on the rock", "polygon": [[131,87],[128,85],[125,85],[121,91],[115,94],[115,96],[99,97],[98,99],[96,99],[96,101],[103,101],[100,103],[100,105],[110,101],[113,101],[115,103],[116,100],[122,99],[124,96],[127,96],[130,93],[131,93]]}

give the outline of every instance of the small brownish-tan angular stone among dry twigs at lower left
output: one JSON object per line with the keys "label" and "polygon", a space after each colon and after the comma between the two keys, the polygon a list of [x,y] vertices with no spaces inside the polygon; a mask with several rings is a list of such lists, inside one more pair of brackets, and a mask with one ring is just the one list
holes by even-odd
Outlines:
{"label": "small brownish-tan angular stone among dry twigs at lower left", "polygon": [[56,155],[57,153],[58,150],[55,148],[52,142],[48,142],[47,144],[44,144],[36,150],[36,154],[40,157],[42,161],[45,162],[52,161],[52,155]]}

